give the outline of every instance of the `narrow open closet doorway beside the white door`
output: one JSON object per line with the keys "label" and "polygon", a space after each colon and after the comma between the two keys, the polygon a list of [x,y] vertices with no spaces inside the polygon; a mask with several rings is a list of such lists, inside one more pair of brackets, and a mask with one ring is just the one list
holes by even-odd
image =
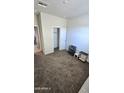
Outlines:
{"label": "narrow open closet doorway beside the white door", "polygon": [[60,28],[54,28],[54,51],[59,50]]}

